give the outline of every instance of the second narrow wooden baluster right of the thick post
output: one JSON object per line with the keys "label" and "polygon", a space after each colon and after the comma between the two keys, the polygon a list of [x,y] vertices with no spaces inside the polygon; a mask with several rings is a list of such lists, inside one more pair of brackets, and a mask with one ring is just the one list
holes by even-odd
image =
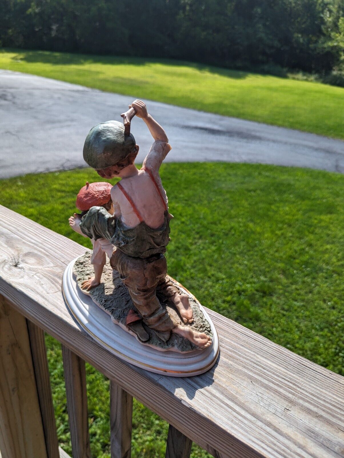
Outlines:
{"label": "second narrow wooden baluster right of the thick post", "polygon": [[73,458],[90,458],[85,361],[62,345]]}

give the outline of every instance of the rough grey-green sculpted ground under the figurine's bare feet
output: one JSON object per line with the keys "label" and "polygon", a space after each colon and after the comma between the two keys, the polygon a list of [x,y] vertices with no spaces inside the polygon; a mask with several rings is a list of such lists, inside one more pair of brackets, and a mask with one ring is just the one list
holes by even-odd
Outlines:
{"label": "rough grey-green sculpted ground under the figurine's bare feet", "polygon": [[[76,280],[80,289],[81,283],[94,275],[93,266],[90,263],[90,259],[91,251],[86,251],[84,256],[81,256],[75,261],[73,272],[76,276]],[[175,285],[179,289],[177,283],[175,283]],[[121,279],[119,278],[119,273],[117,271],[113,271],[109,264],[104,266],[102,283],[96,288],[92,288],[88,295],[91,296],[97,305],[100,305],[103,309],[111,313],[113,319],[116,322],[120,322],[124,326],[130,309],[135,311],[135,307],[130,298],[128,289],[124,286]],[[194,319],[193,324],[190,327],[199,333],[206,333],[208,336],[213,337],[210,324],[205,319],[202,311],[199,309],[197,301],[192,296],[189,296],[189,300],[193,310]],[[177,314],[177,311],[172,307],[164,304],[163,302],[162,306],[167,308],[169,313],[180,318],[180,316]],[[145,325],[143,326],[145,331],[150,336],[149,340],[144,343],[145,345],[153,345],[157,349],[162,350],[173,349],[182,353],[196,350],[198,348],[196,345],[174,333],[171,334],[171,337],[167,342],[163,342],[153,330],[151,330],[149,327],[146,327]]]}

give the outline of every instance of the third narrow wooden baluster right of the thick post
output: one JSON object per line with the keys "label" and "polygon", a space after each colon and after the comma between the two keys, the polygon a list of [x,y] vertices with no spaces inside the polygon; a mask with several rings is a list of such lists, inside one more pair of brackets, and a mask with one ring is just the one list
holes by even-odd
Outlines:
{"label": "third narrow wooden baluster right of the thick post", "polygon": [[131,457],[133,397],[110,380],[111,458]]}

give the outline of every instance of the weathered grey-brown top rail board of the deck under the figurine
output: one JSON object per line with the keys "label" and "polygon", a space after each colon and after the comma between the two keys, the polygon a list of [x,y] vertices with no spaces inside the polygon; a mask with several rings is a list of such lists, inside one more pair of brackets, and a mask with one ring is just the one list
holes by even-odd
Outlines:
{"label": "weathered grey-brown top rail board of the deck under the figurine", "polygon": [[5,207],[0,240],[0,294],[214,456],[343,456],[343,377],[213,311],[221,349],[210,371],[183,379],[146,372],[95,343],[66,309],[62,274],[84,247]]}

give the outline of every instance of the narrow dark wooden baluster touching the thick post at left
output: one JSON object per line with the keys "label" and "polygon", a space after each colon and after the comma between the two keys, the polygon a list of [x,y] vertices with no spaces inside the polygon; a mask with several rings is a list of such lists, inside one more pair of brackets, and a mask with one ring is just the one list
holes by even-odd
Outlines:
{"label": "narrow dark wooden baluster touching the thick post at left", "polygon": [[59,442],[56,432],[44,331],[29,320],[27,320],[27,329],[29,331],[33,369],[36,378],[47,454],[48,458],[59,458]]}

